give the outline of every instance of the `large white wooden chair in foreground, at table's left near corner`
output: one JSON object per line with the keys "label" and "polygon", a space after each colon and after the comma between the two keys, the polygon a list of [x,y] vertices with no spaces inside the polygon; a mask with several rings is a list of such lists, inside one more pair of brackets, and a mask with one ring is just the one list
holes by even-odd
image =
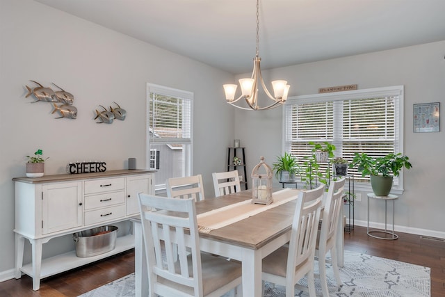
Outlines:
{"label": "large white wooden chair in foreground, at table's left near corner", "polygon": [[241,285],[241,264],[200,252],[195,199],[138,198],[149,296],[219,297]]}

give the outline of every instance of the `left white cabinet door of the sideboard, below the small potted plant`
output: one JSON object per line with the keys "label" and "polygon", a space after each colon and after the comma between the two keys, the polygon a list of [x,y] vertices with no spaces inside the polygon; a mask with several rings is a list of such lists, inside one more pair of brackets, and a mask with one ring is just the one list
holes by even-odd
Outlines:
{"label": "left white cabinet door of the sideboard, below the small potted plant", "polygon": [[79,227],[82,213],[81,182],[42,186],[42,234]]}

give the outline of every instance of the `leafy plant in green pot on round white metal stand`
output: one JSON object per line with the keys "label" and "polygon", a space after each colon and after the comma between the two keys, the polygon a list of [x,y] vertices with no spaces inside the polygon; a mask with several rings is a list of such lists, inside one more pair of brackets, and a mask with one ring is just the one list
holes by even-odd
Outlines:
{"label": "leafy plant in green pot on round white metal stand", "polygon": [[400,152],[378,158],[356,152],[349,168],[357,167],[357,170],[362,172],[362,177],[369,175],[375,195],[387,196],[391,191],[393,178],[400,174],[402,168],[412,168],[409,160],[410,158],[403,156]]}

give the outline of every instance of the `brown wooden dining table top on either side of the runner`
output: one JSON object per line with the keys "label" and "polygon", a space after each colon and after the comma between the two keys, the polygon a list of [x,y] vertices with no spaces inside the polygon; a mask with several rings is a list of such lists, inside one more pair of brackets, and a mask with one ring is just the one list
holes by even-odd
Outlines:
{"label": "brown wooden dining table top on either side of the runner", "polygon": [[[279,190],[277,189],[277,191]],[[218,198],[209,198],[196,202],[196,212],[202,214],[249,199],[252,199],[252,190],[223,195]],[[286,202],[231,225],[212,230],[208,234],[200,233],[200,237],[257,250],[277,236],[291,230],[295,207],[296,200]]]}

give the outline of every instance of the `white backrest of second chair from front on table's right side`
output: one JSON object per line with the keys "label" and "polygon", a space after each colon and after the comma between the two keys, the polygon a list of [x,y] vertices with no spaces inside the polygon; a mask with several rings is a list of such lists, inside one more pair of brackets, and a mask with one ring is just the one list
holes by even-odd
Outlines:
{"label": "white backrest of second chair from front on table's right side", "polygon": [[341,205],[343,205],[343,188],[345,178],[330,183],[327,191],[325,208],[323,209],[323,223],[321,223],[319,247],[332,246],[337,235],[337,224],[339,220]]}

